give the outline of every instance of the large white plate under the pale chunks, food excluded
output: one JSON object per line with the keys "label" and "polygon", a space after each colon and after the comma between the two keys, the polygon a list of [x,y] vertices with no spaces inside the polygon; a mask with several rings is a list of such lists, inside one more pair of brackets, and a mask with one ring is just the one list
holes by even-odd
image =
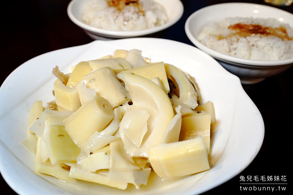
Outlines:
{"label": "large white plate under the pale chunks, food excluded", "polygon": [[[212,101],[217,118],[208,171],[172,182],[149,181],[148,187],[125,191],[99,184],[69,184],[33,172],[34,156],[21,141],[26,138],[28,114],[35,100],[44,106],[54,99],[52,69],[64,73],[80,61],[113,54],[116,49],[139,49],[143,56],[173,64],[195,77],[202,101]],[[14,70],[0,88],[0,170],[18,194],[200,194],[230,180],[253,161],[263,143],[260,112],[240,80],[199,49],[156,38],[94,41],[37,56]],[[49,181],[49,182],[48,182]]]}

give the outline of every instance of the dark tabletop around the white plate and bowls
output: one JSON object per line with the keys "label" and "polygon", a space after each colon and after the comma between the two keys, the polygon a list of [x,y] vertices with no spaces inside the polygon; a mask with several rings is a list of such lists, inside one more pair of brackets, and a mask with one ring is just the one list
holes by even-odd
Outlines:
{"label": "dark tabletop around the white plate and bowls", "polygon": [[[0,2],[0,84],[19,65],[29,59],[56,49],[78,46],[92,42],[79,27],[69,20],[67,5],[70,0],[30,0]],[[182,0],[184,4],[183,17],[172,26],[162,37],[193,45],[184,31],[184,24],[189,15],[196,10],[212,4],[237,2],[230,0]],[[238,1],[266,4],[263,0]],[[293,5],[279,7],[293,13]],[[217,14],[217,13],[215,13]],[[194,45],[193,45],[194,46]],[[293,67],[283,73],[269,77],[264,81],[242,85],[248,96],[255,103],[263,116],[265,137],[263,145],[252,163],[239,175],[228,182],[204,194],[219,192],[237,194],[288,194],[292,166],[289,160],[292,149],[292,111],[293,111]],[[249,114],[249,113],[247,113]],[[253,136],[253,135],[252,135]],[[287,181],[275,181],[273,184],[255,183],[259,187],[286,187],[282,191],[243,191],[240,189],[240,177],[252,178],[261,176],[285,176]],[[1,177],[1,186],[6,194],[16,194]],[[278,184],[283,183],[283,184]],[[253,185],[251,185],[252,187]]]}

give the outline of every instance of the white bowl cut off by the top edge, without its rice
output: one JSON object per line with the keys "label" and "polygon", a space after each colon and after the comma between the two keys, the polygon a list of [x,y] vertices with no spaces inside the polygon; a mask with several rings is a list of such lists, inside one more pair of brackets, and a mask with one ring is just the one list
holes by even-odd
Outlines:
{"label": "white bowl cut off by the top edge, without its rice", "polygon": [[132,37],[161,37],[166,29],[175,24],[183,14],[183,4],[180,0],[154,0],[160,3],[166,9],[168,15],[168,22],[166,24],[151,29],[136,31],[105,30],[92,27],[82,22],[82,10],[88,1],[89,0],[72,0],[68,5],[67,14],[72,22],[81,27],[92,39],[96,40],[122,39]]}

